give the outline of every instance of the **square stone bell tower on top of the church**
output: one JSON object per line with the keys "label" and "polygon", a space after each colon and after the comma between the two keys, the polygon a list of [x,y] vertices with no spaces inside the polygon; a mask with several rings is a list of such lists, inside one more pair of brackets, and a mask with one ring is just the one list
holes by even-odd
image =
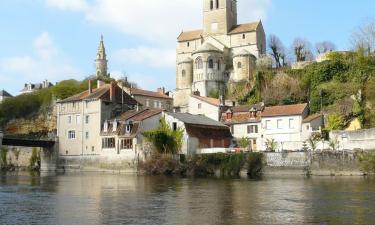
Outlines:
{"label": "square stone bell tower on top of the church", "polygon": [[228,34],[237,25],[237,0],[203,0],[203,34]]}

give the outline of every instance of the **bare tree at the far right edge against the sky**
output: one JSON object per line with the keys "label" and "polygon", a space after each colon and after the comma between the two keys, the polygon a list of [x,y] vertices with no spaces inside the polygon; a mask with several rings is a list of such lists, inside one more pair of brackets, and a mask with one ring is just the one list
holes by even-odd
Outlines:
{"label": "bare tree at the far right edge against the sky", "polygon": [[363,48],[368,54],[375,54],[375,22],[364,23],[352,35],[354,49]]}

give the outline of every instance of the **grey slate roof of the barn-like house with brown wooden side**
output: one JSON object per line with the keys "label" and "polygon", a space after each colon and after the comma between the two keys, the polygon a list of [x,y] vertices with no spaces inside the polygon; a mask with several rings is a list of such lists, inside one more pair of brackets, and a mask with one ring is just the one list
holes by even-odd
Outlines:
{"label": "grey slate roof of the barn-like house with brown wooden side", "polygon": [[167,114],[184,122],[185,124],[204,125],[204,126],[212,126],[212,127],[227,127],[226,125],[218,121],[212,120],[202,115],[192,115],[189,113],[171,113],[171,112],[168,112]]}

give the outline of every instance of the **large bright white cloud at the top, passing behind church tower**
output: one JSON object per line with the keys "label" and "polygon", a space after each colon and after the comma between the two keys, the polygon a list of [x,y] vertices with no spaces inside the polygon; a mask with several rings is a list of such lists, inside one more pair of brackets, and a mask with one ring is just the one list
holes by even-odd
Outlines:
{"label": "large bright white cloud at the top, passing behind church tower", "polygon": [[[202,0],[46,0],[61,10],[80,11],[86,21],[112,27],[160,46],[175,43],[182,30],[202,27]],[[77,1],[77,3],[75,3]],[[271,0],[239,1],[242,22],[266,19]]]}

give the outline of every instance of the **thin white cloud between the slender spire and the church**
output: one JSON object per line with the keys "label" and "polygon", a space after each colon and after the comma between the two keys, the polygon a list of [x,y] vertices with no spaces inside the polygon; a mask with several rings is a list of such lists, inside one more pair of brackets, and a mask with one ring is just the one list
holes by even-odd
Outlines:
{"label": "thin white cloud between the slender spire and the church", "polygon": [[118,50],[113,54],[112,59],[122,64],[132,63],[148,65],[153,68],[174,68],[176,51],[174,49],[140,46]]}

